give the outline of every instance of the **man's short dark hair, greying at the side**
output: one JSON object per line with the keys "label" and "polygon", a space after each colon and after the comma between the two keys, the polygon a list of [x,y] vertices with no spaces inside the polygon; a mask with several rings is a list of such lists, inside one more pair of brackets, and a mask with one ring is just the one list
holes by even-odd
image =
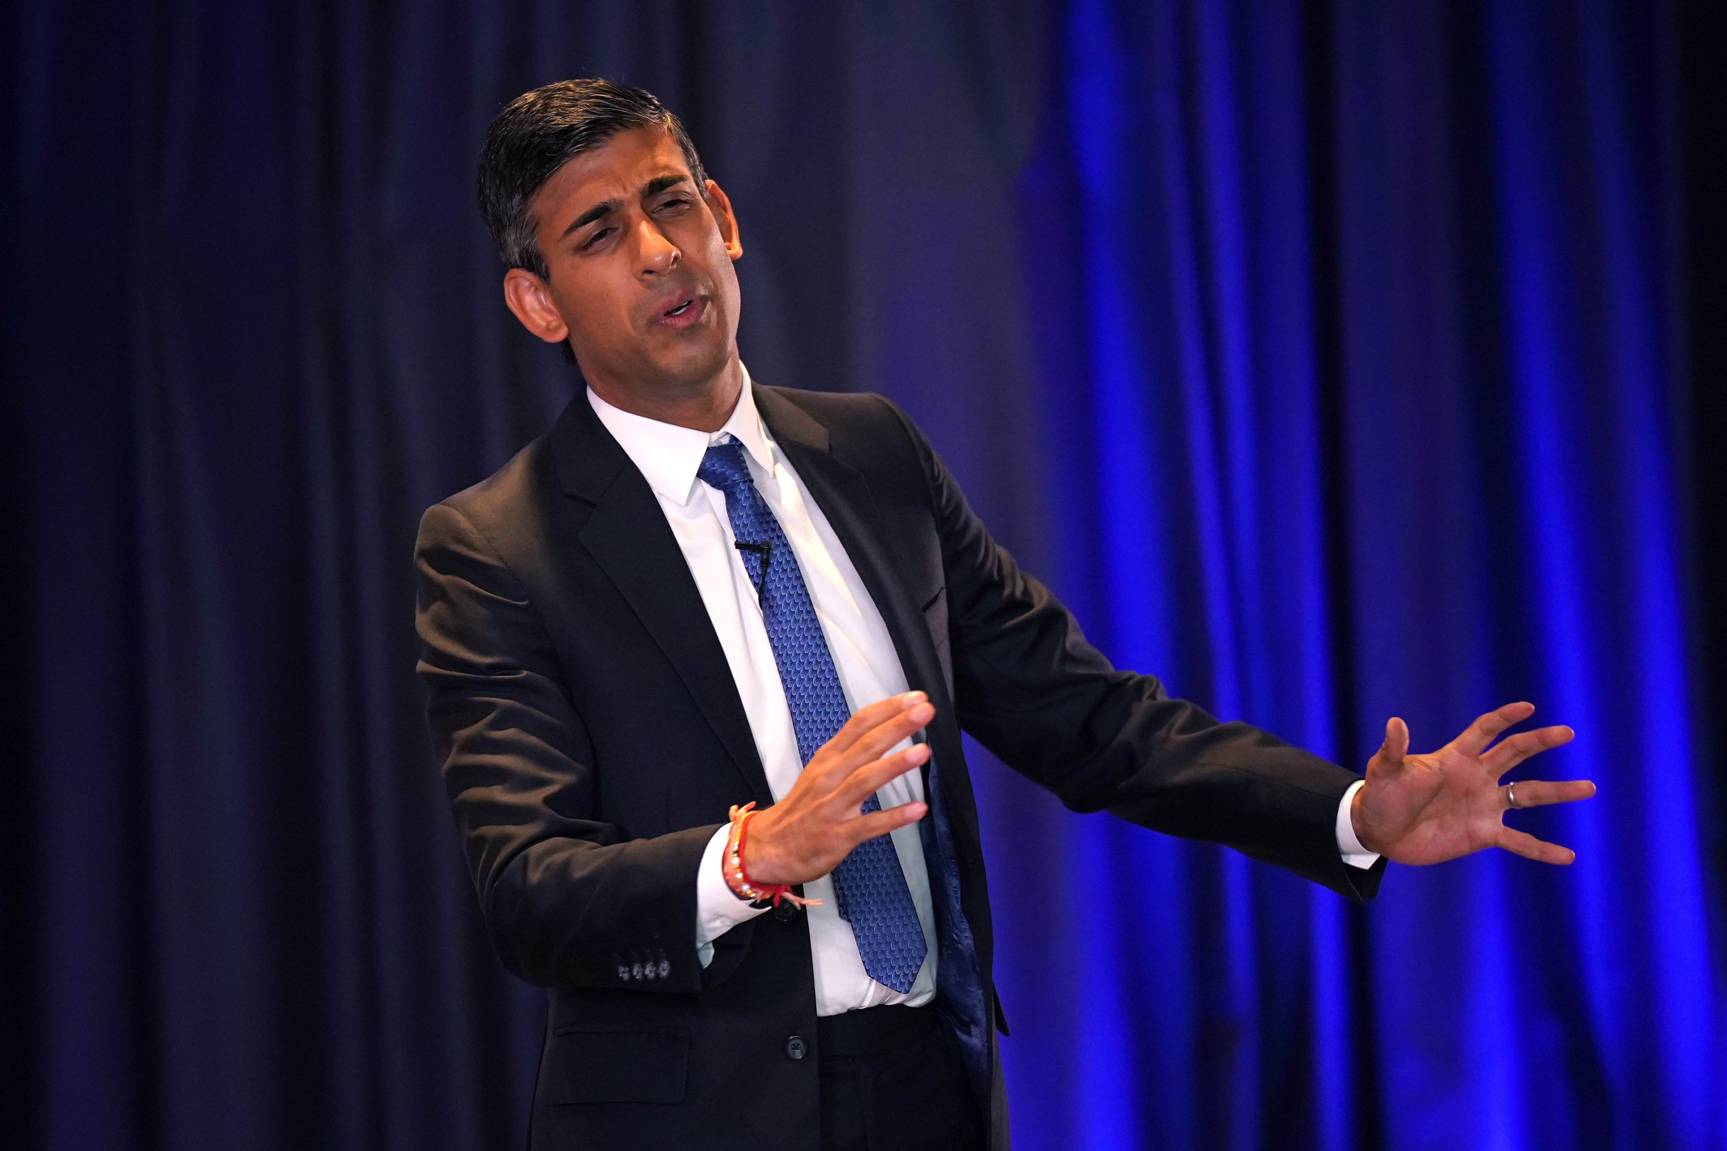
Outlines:
{"label": "man's short dark hair, greying at the side", "polygon": [[485,129],[480,148],[480,216],[497,257],[547,278],[546,257],[534,245],[539,221],[528,204],[553,173],[620,131],[663,128],[684,152],[696,192],[706,197],[708,174],[684,123],[651,91],[610,79],[561,79],[509,102]]}

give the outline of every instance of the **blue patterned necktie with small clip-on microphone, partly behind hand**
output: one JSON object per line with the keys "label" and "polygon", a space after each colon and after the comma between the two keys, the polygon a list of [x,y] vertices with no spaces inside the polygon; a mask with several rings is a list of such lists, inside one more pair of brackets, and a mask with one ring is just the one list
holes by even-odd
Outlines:
{"label": "blue patterned necktie with small clip-on microphone, partly behind hand", "polygon": [[[839,689],[810,592],[803,587],[798,557],[774,509],[756,492],[741,443],[712,445],[696,475],[725,492],[737,550],[762,599],[762,623],[767,625],[774,664],[791,706],[798,754],[810,763],[810,756],[851,718],[851,709]],[[870,794],[862,809],[879,811],[881,801]],[[839,918],[851,923],[857,935],[869,977],[898,992],[910,991],[917,970],[924,966],[924,928],[888,835],[858,844],[839,861],[834,896],[839,899]]]}

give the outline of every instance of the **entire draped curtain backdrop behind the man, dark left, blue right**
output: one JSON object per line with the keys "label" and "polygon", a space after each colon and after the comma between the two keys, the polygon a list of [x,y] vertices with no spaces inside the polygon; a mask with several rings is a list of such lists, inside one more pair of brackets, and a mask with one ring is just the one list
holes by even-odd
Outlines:
{"label": "entire draped curtain backdrop behind the man, dark left, blue right", "polygon": [[687,117],[756,376],[901,402],[1117,663],[1356,768],[1530,699],[1601,785],[1357,911],[977,751],[1022,1148],[1724,1146],[1708,5],[0,19],[5,1146],[522,1146],[409,552],[579,393],[471,192],[577,74]]}

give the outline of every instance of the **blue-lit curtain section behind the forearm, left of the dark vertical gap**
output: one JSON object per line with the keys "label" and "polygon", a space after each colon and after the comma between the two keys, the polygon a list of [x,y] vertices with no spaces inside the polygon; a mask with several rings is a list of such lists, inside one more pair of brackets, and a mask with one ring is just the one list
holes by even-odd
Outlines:
{"label": "blue-lit curtain section behind the forearm, left of the dark vertical gap", "polygon": [[[1117,664],[1340,756],[1302,36],[1294,5],[1074,5],[1022,231],[1029,309],[1060,349],[1040,364],[1052,502],[1072,509],[1057,587]],[[1015,1132],[1351,1146],[1342,903],[1231,852],[1029,811],[991,815],[1012,840],[1059,828],[1066,875],[1048,904],[1002,901],[1003,939],[1041,940],[1003,973],[1026,1037],[1009,1075],[1059,1089],[1015,1092]],[[1050,908],[1066,930],[1038,930]]]}

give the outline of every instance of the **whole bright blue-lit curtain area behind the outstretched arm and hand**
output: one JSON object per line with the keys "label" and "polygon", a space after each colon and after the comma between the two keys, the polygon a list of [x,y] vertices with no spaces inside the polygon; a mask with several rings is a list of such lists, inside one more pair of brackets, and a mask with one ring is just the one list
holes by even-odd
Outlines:
{"label": "whole bright blue-lit curtain area behind the outstretched arm and hand", "polygon": [[1580,739],[1532,770],[1601,799],[1513,818],[1568,871],[1394,868],[1354,916],[986,792],[1064,871],[1062,930],[1003,901],[1034,1146],[1724,1146],[1672,17],[1066,12],[1021,178],[1060,590],[1117,663],[1356,766],[1392,714],[1437,745],[1535,701]]}

